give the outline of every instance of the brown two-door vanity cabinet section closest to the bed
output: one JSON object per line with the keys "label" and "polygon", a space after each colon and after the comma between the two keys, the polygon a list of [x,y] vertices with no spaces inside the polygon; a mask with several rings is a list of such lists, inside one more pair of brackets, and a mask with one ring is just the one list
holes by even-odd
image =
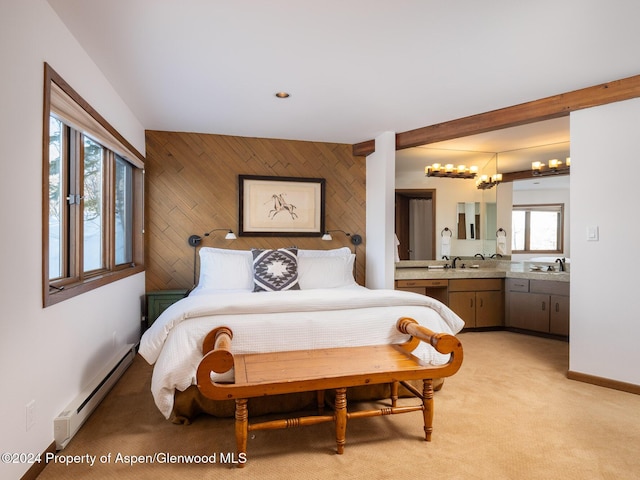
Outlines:
{"label": "brown two-door vanity cabinet section closest to the bed", "polygon": [[465,328],[504,326],[504,280],[449,280],[448,305],[464,320]]}

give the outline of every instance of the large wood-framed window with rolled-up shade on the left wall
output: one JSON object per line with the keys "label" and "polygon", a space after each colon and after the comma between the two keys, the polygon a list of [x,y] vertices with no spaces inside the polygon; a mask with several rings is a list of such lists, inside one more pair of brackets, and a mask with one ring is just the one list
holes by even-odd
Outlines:
{"label": "large wood-framed window with rolled-up shade on the left wall", "polygon": [[43,303],[144,270],[142,156],[45,65]]}

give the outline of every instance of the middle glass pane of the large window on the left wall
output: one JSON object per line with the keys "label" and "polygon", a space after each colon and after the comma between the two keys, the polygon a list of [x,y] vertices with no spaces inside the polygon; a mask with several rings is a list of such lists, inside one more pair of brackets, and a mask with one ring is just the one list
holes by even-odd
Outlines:
{"label": "middle glass pane of the large window on the left wall", "polygon": [[84,137],[84,271],[98,270],[103,262],[103,148]]}

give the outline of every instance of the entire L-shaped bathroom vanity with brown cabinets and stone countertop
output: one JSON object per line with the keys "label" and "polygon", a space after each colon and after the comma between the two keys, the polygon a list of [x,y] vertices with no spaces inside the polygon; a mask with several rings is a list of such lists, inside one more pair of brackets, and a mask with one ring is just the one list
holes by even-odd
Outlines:
{"label": "entire L-shaped bathroom vanity with brown cabinets and stone countertop", "polygon": [[[465,329],[508,328],[523,333],[569,335],[567,271],[553,264],[474,259],[396,264],[395,288],[440,300],[465,321]],[[548,271],[548,268],[552,270]]]}

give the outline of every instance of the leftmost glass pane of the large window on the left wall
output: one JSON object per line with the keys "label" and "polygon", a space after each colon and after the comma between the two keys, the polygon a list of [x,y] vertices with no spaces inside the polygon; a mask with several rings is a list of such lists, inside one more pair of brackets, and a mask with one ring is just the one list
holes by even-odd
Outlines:
{"label": "leftmost glass pane of the large window on the left wall", "polygon": [[65,192],[62,166],[62,122],[49,119],[49,279],[63,275]]}

